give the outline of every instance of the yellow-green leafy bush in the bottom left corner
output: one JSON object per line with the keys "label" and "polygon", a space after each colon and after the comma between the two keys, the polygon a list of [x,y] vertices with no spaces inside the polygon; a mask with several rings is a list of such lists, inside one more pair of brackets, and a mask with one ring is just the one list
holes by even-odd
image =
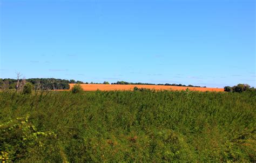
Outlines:
{"label": "yellow-green leafy bush in the bottom left corner", "polygon": [[56,138],[53,132],[38,132],[29,117],[16,118],[0,125],[0,161],[18,161],[42,150],[45,138]]}

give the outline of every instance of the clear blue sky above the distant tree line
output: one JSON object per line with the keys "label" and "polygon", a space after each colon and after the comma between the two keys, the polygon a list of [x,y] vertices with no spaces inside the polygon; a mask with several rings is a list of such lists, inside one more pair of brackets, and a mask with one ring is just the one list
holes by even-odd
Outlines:
{"label": "clear blue sky above the distant tree line", "polygon": [[0,1],[0,78],[255,84],[255,1]]}

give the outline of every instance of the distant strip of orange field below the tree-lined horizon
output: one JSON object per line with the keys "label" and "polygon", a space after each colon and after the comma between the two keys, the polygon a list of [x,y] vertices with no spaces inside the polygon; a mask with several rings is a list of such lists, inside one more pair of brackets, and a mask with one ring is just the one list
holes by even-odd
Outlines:
{"label": "distant strip of orange field below the tree-lined horizon", "polygon": [[[70,84],[70,89],[75,84]],[[114,90],[129,90],[132,91],[134,87],[151,89],[151,90],[186,90],[187,88],[191,91],[216,91],[223,92],[224,89],[216,88],[203,88],[203,87],[186,87],[186,86],[165,86],[165,85],[111,85],[111,84],[80,84],[85,91],[114,91]]]}

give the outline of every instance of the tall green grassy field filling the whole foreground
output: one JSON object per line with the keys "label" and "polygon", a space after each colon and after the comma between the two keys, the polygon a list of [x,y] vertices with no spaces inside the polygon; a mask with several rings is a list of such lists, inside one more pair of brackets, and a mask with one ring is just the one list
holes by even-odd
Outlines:
{"label": "tall green grassy field filling the whole foreground", "polygon": [[256,161],[256,94],[0,92],[1,159]]}

